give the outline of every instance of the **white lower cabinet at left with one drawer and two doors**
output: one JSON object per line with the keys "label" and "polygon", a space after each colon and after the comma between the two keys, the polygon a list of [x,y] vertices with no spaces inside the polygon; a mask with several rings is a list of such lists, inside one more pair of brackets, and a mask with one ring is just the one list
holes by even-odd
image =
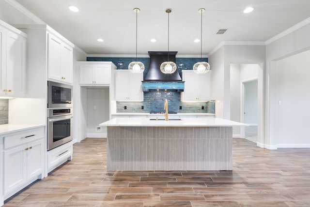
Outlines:
{"label": "white lower cabinet at left with one drawer and two doors", "polygon": [[3,140],[3,197],[6,199],[42,178],[44,127],[1,135]]}

